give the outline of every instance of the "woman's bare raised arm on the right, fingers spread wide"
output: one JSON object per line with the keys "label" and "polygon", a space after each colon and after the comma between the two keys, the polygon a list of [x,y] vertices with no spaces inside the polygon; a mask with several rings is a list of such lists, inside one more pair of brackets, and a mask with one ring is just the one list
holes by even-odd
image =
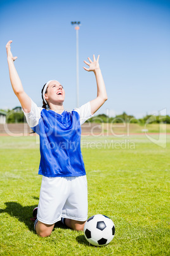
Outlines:
{"label": "woman's bare raised arm on the right, fingers spread wide", "polygon": [[105,88],[105,83],[103,80],[103,76],[101,75],[100,66],[98,64],[98,59],[100,55],[98,55],[98,58],[95,59],[95,55],[93,55],[93,61],[88,58],[89,63],[84,60],[84,63],[86,63],[89,68],[84,68],[86,71],[93,71],[96,76],[96,83],[97,83],[97,97],[96,99],[93,99],[90,101],[91,105],[91,115],[93,115],[102,105],[107,101],[107,92]]}

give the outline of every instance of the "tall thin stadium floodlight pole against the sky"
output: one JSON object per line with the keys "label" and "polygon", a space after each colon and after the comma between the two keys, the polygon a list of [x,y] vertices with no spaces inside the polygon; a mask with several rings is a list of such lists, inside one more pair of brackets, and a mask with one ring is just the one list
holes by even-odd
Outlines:
{"label": "tall thin stadium floodlight pole against the sky", "polygon": [[77,108],[79,108],[79,29],[81,22],[71,22],[76,31],[76,73],[77,73]]}

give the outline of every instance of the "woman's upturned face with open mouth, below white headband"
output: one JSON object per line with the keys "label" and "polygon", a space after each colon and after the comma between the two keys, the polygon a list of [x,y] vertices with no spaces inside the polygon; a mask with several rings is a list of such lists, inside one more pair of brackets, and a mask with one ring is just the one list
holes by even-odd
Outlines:
{"label": "woman's upturned face with open mouth, below white headband", "polygon": [[65,90],[58,81],[51,81],[47,87],[47,93],[44,94],[46,101],[53,104],[61,104],[65,99]]}

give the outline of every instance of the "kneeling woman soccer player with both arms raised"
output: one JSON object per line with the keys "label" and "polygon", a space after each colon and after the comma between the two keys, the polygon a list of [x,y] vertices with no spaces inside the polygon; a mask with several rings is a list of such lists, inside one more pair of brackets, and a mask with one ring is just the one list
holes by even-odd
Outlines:
{"label": "kneeling woman soccer player with both arms raised", "polygon": [[81,153],[81,125],[91,118],[107,101],[105,83],[98,58],[84,60],[96,77],[97,96],[80,108],[64,110],[65,90],[60,82],[48,81],[42,88],[42,108],[30,99],[22,87],[11,53],[11,42],[6,44],[8,67],[13,91],[22,105],[29,126],[39,134],[42,175],[38,207],[34,210],[34,228],[39,236],[50,236],[56,222],[70,229],[82,231],[88,217],[86,171]]}

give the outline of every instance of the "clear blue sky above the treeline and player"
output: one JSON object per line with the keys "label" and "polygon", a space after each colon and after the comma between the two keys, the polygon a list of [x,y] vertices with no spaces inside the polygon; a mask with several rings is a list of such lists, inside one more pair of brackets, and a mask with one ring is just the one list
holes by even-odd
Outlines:
{"label": "clear blue sky above the treeline and player", "polygon": [[[79,103],[96,97],[93,73],[84,60],[100,54],[108,101],[97,113],[126,111],[143,117],[166,109],[170,115],[170,1],[0,1],[0,108],[19,105],[6,60],[11,51],[25,92],[42,106],[41,89],[48,80],[63,85],[64,107],[76,106],[75,29],[79,30]],[[97,114],[96,113],[96,114]]]}

